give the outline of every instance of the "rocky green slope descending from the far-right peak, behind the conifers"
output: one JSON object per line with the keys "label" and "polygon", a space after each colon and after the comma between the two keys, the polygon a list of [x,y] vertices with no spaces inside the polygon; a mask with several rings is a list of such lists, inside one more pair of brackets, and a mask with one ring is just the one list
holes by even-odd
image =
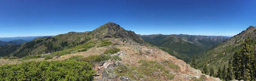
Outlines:
{"label": "rocky green slope descending from the far-right peak, behind the conifers", "polygon": [[199,54],[197,56],[198,68],[202,69],[206,64],[208,67],[213,67],[214,70],[217,70],[218,66],[228,65],[229,59],[244,47],[243,42],[247,37],[255,40],[256,27],[250,26],[241,33]]}

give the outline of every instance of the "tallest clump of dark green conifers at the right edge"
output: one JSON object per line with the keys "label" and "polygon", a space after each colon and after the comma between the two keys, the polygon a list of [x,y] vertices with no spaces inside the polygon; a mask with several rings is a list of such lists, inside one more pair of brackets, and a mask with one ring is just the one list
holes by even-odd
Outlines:
{"label": "tallest clump of dark green conifers at the right edge", "polygon": [[[246,37],[243,47],[233,56],[235,79],[251,81],[256,78],[256,40]],[[224,78],[223,78],[224,79]]]}

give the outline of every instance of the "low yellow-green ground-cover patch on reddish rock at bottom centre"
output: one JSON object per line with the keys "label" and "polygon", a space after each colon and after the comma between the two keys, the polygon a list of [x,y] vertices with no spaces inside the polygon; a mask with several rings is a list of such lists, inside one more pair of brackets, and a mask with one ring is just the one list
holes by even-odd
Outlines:
{"label": "low yellow-green ground-cover patch on reddish rock at bottom centre", "polygon": [[[119,65],[114,71],[119,76],[128,76],[131,77],[133,80],[139,81],[140,78],[144,78],[146,81],[156,81],[158,77],[165,77],[168,79],[173,79],[174,74],[169,73],[170,70],[164,68],[164,66],[156,61],[146,61],[146,60],[139,60],[138,63],[141,63],[138,67],[136,66],[121,66]],[[164,61],[164,65],[169,66],[169,61]],[[170,67],[170,66],[169,66]],[[172,67],[172,66],[171,66]],[[170,67],[170,68],[171,68]],[[178,69],[177,67],[174,67]],[[121,70],[121,71],[120,71]]]}

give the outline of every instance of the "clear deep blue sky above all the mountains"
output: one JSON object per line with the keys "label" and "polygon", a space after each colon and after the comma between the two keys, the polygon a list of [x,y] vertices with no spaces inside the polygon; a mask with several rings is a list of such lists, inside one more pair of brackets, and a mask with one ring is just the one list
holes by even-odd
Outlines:
{"label": "clear deep blue sky above all the mountains", "polygon": [[0,0],[0,37],[92,31],[236,35],[256,26],[256,0]]}

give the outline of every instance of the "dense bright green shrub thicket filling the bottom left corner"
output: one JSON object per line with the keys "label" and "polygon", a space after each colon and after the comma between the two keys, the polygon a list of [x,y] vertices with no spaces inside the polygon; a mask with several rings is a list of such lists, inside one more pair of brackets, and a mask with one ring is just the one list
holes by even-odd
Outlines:
{"label": "dense bright green shrub thicket filling the bottom left corner", "polygon": [[0,66],[0,78],[4,81],[91,81],[95,71],[87,62],[29,61]]}

